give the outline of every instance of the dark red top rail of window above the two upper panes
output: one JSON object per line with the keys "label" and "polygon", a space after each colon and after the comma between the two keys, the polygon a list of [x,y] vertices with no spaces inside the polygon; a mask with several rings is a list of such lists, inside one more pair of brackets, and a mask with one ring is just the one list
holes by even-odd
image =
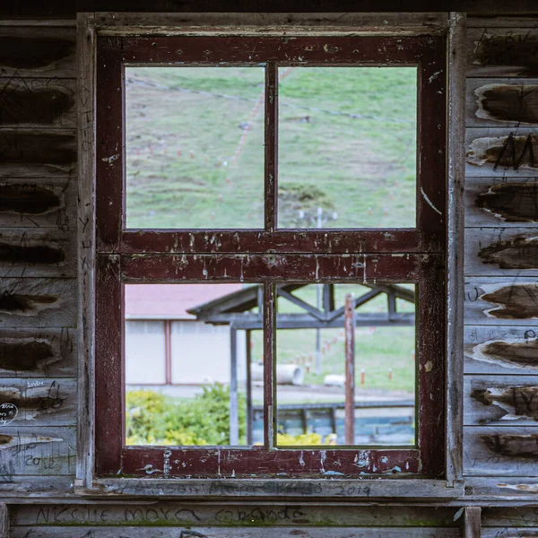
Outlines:
{"label": "dark red top rail of window above the two upper panes", "polygon": [[157,37],[124,38],[127,64],[416,65],[444,38],[403,37]]}

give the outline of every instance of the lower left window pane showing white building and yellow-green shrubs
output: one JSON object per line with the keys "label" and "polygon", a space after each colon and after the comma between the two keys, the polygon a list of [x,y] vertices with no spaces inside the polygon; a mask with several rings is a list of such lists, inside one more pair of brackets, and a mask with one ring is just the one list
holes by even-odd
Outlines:
{"label": "lower left window pane showing white building and yellow-green shrubs", "polygon": [[240,283],[125,286],[127,445],[263,443],[258,297]]}

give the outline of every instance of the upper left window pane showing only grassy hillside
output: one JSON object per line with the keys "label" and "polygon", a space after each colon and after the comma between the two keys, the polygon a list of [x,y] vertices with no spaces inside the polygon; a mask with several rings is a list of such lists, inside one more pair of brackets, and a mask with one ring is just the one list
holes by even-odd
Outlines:
{"label": "upper left window pane showing only grassy hillside", "polygon": [[261,228],[263,67],[126,67],[127,228]]}

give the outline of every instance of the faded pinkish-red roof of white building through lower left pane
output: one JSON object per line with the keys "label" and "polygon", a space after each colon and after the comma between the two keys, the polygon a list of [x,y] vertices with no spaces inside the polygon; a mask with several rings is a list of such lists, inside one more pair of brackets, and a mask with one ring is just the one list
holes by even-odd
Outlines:
{"label": "faded pinkish-red roof of white building through lower left pane", "polygon": [[194,318],[188,308],[242,289],[237,284],[127,284],[126,317]]}

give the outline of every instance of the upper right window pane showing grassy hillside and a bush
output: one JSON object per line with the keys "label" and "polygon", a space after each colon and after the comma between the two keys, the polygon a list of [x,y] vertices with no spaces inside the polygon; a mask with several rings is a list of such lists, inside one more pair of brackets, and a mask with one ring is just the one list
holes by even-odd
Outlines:
{"label": "upper right window pane showing grassy hillside and a bush", "polygon": [[279,69],[281,228],[414,228],[415,67]]}

